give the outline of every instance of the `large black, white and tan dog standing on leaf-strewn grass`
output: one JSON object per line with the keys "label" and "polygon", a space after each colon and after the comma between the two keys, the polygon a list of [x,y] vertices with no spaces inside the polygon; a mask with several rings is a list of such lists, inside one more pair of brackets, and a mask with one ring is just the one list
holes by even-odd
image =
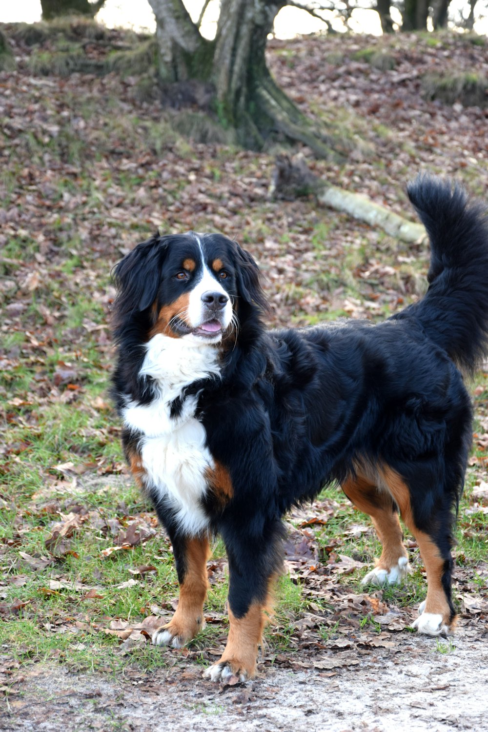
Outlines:
{"label": "large black, white and tan dog standing on leaf-strewn grass", "polygon": [[376,326],[267,331],[258,267],[219,234],[153,236],[116,266],[124,450],[180,583],[153,643],[180,647],[202,627],[209,537],[220,534],[230,631],[205,672],[214,681],[255,673],[282,515],[333,481],[383,543],[365,581],[408,574],[401,515],[427,569],[415,627],[454,627],[452,529],[472,421],[462,373],[487,354],[488,226],[448,182],[420,177],[408,193],[432,246],[429,288]]}

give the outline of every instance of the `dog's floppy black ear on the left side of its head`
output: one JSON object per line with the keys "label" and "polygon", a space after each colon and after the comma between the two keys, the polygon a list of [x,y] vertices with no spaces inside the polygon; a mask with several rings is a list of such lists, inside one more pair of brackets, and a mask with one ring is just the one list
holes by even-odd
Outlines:
{"label": "dog's floppy black ear on the left side of its head", "polygon": [[142,312],[152,305],[157,296],[162,261],[168,244],[164,236],[154,234],[134,247],[112,270],[117,297],[116,314]]}

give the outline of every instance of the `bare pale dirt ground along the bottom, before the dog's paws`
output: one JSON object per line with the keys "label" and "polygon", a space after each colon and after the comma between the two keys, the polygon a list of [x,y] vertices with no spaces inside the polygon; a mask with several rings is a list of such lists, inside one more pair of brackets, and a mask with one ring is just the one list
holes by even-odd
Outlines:
{"label": "bare pale dirt ground along the bottom, before the dog's paws", "polygon": [[[450,641],[402,634],[394,649],[323,657],[323,670],[266,668],[222,687],[189,664],[151,674],[23,669],[1,730],[131,732],[488,730],[488,644],[472,630]],[[302,657],[306,667],[307,658]]]}

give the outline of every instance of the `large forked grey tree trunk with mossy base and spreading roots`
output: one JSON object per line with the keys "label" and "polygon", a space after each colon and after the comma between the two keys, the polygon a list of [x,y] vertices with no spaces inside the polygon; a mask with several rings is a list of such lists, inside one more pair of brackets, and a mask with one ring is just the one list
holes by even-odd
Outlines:
{"label": "large forked grey tree trunk with mossy base and spreading roots", "polygon": [[266,41],[285,0],[222,0],[211,42],[201,37],[181,0],[149,4],[157,20],[163,81],[211,82],[219,121],[235,127],[245,146],[259,149],[279,132],[319,157],[331,156],[329,139],[279,89],[266,66]]}

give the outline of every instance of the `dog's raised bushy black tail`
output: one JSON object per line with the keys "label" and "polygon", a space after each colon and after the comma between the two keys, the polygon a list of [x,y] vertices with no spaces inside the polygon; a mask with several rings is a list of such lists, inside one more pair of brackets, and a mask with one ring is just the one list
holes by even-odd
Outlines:
{"label": "dog's raised bushy black tail", "polygon": [[487,209],[432,176],[418,176],[407,190],[432,250],[429,288],[412,310],[429,338],[473,373],[488,354]]}

